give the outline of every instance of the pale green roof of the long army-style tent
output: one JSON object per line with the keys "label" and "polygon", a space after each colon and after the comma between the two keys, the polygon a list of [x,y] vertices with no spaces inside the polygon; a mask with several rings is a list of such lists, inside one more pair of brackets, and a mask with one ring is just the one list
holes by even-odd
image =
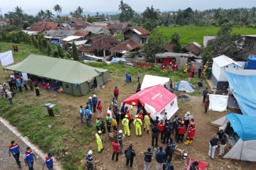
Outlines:
{"label": "pale green roof of the long army-style tent", "polygon": [[97,77],[107,69],[90,67],[77,61],[63,60],[41,55],[29,55],[22,62],[4,69],[65,81],[70,84],[83,83],[90,77]]}

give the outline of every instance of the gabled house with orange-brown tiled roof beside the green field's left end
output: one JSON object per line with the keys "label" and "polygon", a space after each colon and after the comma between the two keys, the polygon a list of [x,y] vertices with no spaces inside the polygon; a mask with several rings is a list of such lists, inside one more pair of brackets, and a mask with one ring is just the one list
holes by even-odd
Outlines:
{"label": "gabled house with orange-brown tiled roof beside the green field's left end", "polygon": [[139,45],[145,44],[149,36],[149,31],[142,28],[141,26],[130,27],[126,31],[124,31],[124,40],[132,39]]}

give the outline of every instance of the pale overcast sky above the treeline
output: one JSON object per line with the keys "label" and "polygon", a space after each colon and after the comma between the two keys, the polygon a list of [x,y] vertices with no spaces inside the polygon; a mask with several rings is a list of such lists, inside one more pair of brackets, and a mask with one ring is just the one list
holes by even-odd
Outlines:
{"label": "pale overcast sky above the treeline", "polygon": [[[63,13],[75,11],[75,8],[82,6],[84,11],[118,11],[120,0],[1,0],[0,8],[4,15],[8,11],[13,11],[16,6],[21,6],[23,11],[28,14],[36,14],[40,9],[50,9],[59,4],[63,7]],[[191,7],[198,10],[209,8],[252,8],[256,6],[255,0],[124,0],[124,3],[132,6],[134,11],[144,11],[146,6],[153,5],[160,11],[176,11],[179,8],[185,9]],[[54,12],[55,14],[55,12]]]}

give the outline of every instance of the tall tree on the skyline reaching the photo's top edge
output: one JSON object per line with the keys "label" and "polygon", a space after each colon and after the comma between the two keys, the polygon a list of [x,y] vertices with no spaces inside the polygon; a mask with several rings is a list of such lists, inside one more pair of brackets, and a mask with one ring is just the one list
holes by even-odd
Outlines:
{"label": "tall tree on the skyline reaching the photo's top edge", "polygon": [[121,11],[120,18],[119,18],[120,21],[125,21],[126,23],[128,23],[128,21],[132,19],[135,12],[132,9],[132,7],[129,6],[129,4],[126,4],[123,1],[120,1],[118,10]]}

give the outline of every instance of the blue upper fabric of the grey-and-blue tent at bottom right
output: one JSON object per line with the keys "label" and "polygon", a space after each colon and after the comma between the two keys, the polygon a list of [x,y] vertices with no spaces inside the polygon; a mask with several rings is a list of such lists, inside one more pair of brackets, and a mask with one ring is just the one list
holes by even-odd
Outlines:
{"label": "blue upper fabric of the grey-and-blue tent at bottom right", "polygon": [[225,115],[228,121],[233,127],[234,132],[238,136],[245,140],[256,140],[256,118],[248,115],[238,115],[235,113],[229,113]]}

